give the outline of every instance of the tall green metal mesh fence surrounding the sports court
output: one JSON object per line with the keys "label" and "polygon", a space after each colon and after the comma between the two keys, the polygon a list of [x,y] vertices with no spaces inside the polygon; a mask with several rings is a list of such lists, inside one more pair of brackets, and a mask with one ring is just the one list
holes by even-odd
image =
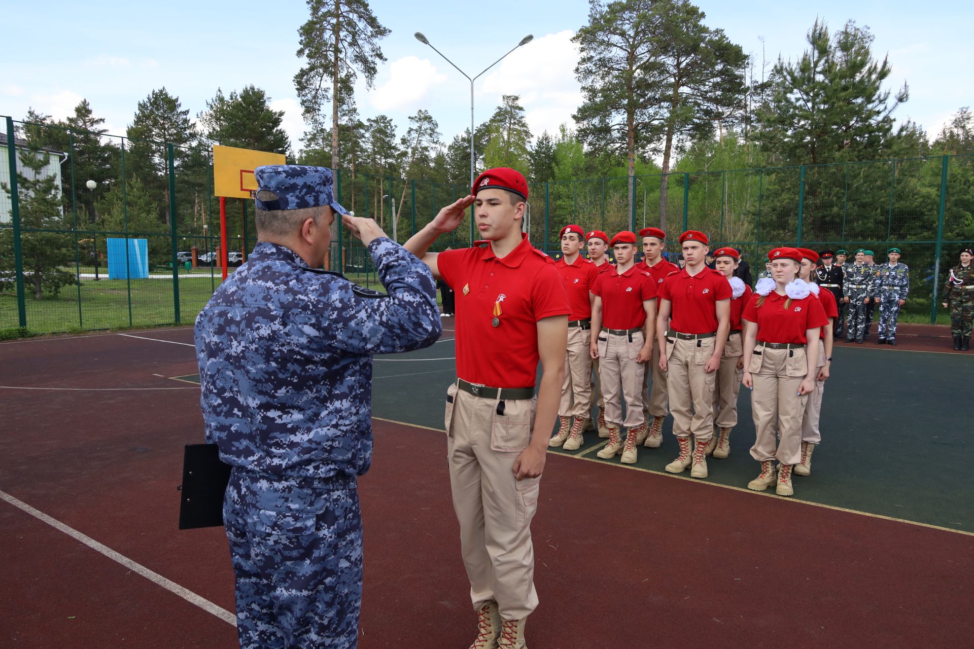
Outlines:
{"label": "tall green metal mesh fence surrounding the sports court", "polygon": [[[5,122],[0,332],[192,323],[221,281],[218,267],[201,262],[185,268],[179,256],[195,247],[205,260],[219,246],[210,152],[11,118]],[[15,136],[25,141],[12,146]],[[88,159],[93,140],[107,160],[95,171]],[[31,149],[50,158],[59,175],[56,196],[47,202],[29,191],[34,174],[21,158]],[[93,174],[99,177],[88,177]],[[94,189],[88,189],[89,180],[95,181]],[[569,223],[610,234],[645,226],[670,233],[693,228],[715,244],[740,248],[756,266],[769,248],[786,243],[863,246],[877,252],[878,263],[885,261],[887,247],[896,245],[911,268],[907,313],[930,322],[938,315],[945,320],[933,298],[958,250],[974,244],[974,156],[676,171],[665,180],[665,201],[660,175],[531,183],[531,240],[554,253],[558,232]],[[466,185],[346,169],[337,178],[342,204],[374,217],[399,242],[468,191]],[[106,238],[112,236],[147,240],[148,278],[106,278]],[[465,223],[441,236],[435,249],[466,247],[474,238],[472,222]],[[227,240],[231,252],[252,250],[256,227],[250,201],[227,199]],[[347,232],[339,231],[329,264],[360,283],[377,282],[367,252]],[[46,278],[57,273],[64,283],[55,291]]]}

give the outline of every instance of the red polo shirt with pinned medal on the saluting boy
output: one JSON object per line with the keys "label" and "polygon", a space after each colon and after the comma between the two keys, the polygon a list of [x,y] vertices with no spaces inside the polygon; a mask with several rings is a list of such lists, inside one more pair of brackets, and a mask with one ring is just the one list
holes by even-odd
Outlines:
{"label": "red polo shirt with pinned medal on the saluting boy", "polygon": [[[489,241],[441,252],[436,266],[457,301],[457,376],[490,387],[534,387],[538,321],[568,315],[568,296],[554,261],[526,235],[506,257]],[[494,327],[498,306],[501,324]]]}

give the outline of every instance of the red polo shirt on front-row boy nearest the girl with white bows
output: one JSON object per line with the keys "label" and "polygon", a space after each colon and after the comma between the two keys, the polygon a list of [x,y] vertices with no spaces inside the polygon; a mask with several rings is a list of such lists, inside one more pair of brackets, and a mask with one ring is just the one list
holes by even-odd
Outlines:
{"label": "red polo shirt on front-row boy nearest the girl with white bows", "polygon": [[681,269],[666,275],[659,295],[672,304],[670,329],[681,334],[717,331],[717,301],[731,299],[731,282],[722,272],[703,267],[695,275]]}

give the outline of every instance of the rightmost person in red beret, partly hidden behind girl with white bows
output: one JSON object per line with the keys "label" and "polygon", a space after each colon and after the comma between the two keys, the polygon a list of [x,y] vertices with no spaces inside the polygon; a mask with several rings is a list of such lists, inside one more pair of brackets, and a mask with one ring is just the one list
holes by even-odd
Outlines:
{"label": "rightmost person in red beret, partly hidden behind girl with white bows", "polygon": [[823,291],[818,286],[816,279],[819,274],[815,269],[819,259],[818,253],[808,248],[799,248],[798,251],[802,253],[802,269],[799,270],[799,277],[808,282],[811,294],[822,303],[825,317],[829,319],[829,323],[822,327],[819,334],[817,351],[812,348],[811,343],[808,344],[809,350],[817,359],[815,389],[808,395],[808,401],[805,403],[805,416],[802,417],[802,460],[795,465],[796,475],[807,476],[811,474],[811,453],[822,441],[819,420],[822,413],[822,396],[825,394],[825,380],[829,378],[832,369],[833,332],[835,322],[839,318],[839,303],[832,291]]}

